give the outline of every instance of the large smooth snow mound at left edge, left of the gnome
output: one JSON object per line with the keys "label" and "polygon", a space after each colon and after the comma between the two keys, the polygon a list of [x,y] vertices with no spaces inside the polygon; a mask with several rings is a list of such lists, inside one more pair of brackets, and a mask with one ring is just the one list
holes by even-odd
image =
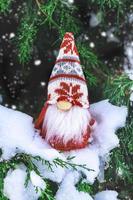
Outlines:
{"label": "large smooth snow mound at left edge, left of the gnome", "polygon": [[3,159],[10,159],[18,152],[46,160],[61,157],[35,132],[31,116],[4,106],[0,106],[0,148]]}

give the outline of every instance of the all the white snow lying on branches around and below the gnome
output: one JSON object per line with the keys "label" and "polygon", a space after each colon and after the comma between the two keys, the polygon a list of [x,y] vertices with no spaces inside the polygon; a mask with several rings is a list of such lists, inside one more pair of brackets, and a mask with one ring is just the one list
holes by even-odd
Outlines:
{"label": "all the white snow lying on branches around and below the gnome", "polygon": [[[93,198],[84,192],[79,192],[75,184],[82,174],[86,182],[93,184],[100,173],[100,158],[105,158],[109,152],[119,145],[119,139],[115,131],[125,125],[127,108],[117,107],[103,100],[90,106],[90,112],[96,119],[97,125],[92,133],[91,144],[85,149],[59,153],[52,149],[39,134],[34,130],[33,119],[27,114],[0,106],[0,148],[2,149],[1,159],[10,159],[16,153],[27,153],[33,156],[40,156],[52,162],[54,158],[66,159],[67,156],[75,156],[72,162],[85,164],[88,171],[78,168],[78,171],[71,171],[61,167],[55,167],[51,172],[41,162],[35,161],[41,177],[34,171],[30,174],[28,187],[25,188],[26,167],[18,166],[15,170],[9,170],[4,179],[4,194],[10,200],[37,200],[41,189],[46,188],[43,178],[48,178],[60,184],[56,200],[117,200],[117,192],[103,191]],[[38,188],[36,193],[35,188]],[[13,188],[13,189],[12,189]]]}

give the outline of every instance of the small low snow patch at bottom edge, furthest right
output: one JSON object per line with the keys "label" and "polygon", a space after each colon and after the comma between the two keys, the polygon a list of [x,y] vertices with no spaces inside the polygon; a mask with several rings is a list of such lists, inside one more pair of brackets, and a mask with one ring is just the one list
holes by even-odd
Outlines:
{"label": "small low snow patch at bottom edge, furthest right", "polygon": [[106,190],[99,192],[95,195],[94,200],[118,200],[117,199],[118,193],[113,190]]}

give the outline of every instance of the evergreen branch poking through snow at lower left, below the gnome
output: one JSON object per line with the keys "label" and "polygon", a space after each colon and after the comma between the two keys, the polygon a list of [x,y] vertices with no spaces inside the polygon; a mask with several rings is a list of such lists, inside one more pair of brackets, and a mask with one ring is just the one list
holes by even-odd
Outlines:
{"label": "evergreen branch poking through snow at lower left, below the gnome", "polygon": [[[71,158],[68,157],[67,161],[56,158],[52,162],[49,162],[49,161],[46,161],[46,160],[40,158],[39,156],[33,157],[31,155],[22,153],[22,154],[16,154],[10,160],[1,161],[0,162],[0,195],[2,197],[2,200],[6,200],[6,197],[4,197],[4,195],[3,195],[3,185],[4,185],[4,178],[10,169],[15,169],[18,167],[19,164],[22,164],[22,163],[26,166],[27,177],[25,180],[25,187],[28,186],[31,171],[35,171],[40,177],[42,177],[36,164],[34,163],[34,160],[41,161],[43,164],[48,166],[48,168],[50,166],[50,169],[52,169],[52,166],[55,165],[56,167],[61,166],[63,168],[64,167],[72,168],[73,170],[78,170],[79,168],[85,169],[88,171],[91,170],[91,169],[88,169],[86,167],[86,165],[72,163],[71,160],[73,158],[74,157],[71,157]],[[92,170],[92,171],[94,171],[94,170]],[[42,179],[44,179],[44,178],[42,177]],[[44,181],[47,182],[46,180],[44,180]],[[47,187],[46,187],[45,191],[42,191],[40,199],[54,200],[53,192],[52,192],[50,185],[48,183],[46,185],[47,185]]]}

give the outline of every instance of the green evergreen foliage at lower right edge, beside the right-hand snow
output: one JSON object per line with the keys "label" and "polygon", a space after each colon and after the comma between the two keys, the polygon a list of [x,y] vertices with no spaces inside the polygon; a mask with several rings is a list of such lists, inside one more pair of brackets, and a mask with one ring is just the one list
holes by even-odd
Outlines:
{"label": "green evergreen foliage at lower right edge, beside the right-hand snow", "polygon": [[119,179],[124,181],[124,184],[131,184],[133,180],[132,152],[133,152],[133,122],[127,123],[126,127],[118,131],[120,139],[119,148],[113,150],[111,154],[110,167],[107,170],[106,177],[112,177],[113,184],[117,184]]}

